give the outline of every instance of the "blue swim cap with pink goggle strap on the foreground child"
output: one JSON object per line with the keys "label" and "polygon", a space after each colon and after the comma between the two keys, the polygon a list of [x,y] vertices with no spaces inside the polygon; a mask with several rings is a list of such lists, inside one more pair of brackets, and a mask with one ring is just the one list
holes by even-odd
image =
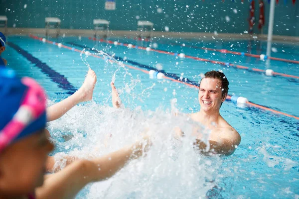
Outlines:
{"label": "blue swim cap with pink goggle strap on the foreground child", "polygon": [[0,110],[0,152],[46,125],[46,96],[41,86],[1,66]]}

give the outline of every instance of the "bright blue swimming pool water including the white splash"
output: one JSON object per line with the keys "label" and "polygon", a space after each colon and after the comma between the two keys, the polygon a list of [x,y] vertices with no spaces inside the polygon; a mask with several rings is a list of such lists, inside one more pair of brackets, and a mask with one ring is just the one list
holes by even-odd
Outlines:
{"label": "bright blue swimming pool water including the white splash", "polygon": [[[50,39],[56,41],[54,38]],[[149,43],[128,38],[112,41],[149,46]],[[107,183],[95,183],[83,190],[78,198],[298,198],[299,197],[299,122],[298,119],[275,114],[256,107],[240,107],[226,101],[220,112],[241,134],[242,141],[229,157],[208,158],[194,153],[186,140],[171,140],[175,125],[190,127],[190,121],[171,116],[171,100],[182,112],[199,110],[197,89],[167,79],[149,79],[142,70],[150,67],[200,81],[200,74],[222,70],[230,82],[230,95],[238,95],[272,109],[299,116],[299,81],[296,78],[269,77],[251,70],[241,70],[210,62],[126,46],[107,44],[82,37],[65,37],[62,44],[70,49],[43,43],[30,37],[10,36],[2,54],[8,67],[20,76],[36,79],[45,89],[50,102],[64,99],[78,89],[88,70],[96,72],[98,82],[94,101],[73,108],[48,126],[57,141],[54,153],[71,153],[81,157],[98,156],[131,143],[144,128],[156,134],[156,144],[148,156],[129,164]],[[155,39],[159,50],[239,64],[266,70],[266,63],[256,58],[205,51],[198,47],[227,49],[252,54],[265,53],[266,43],[257,41]],[[177,45],[178,44],[178,45]],[[179,44],[185,44],[181,46]],[[72,51],[92,48],[114,55],[130,69],[111,64],[107,59]],[[285,59],[298,57],[298,46],[274,44],[272,56]],[[261,50],[260,50],[261,49]],[[276,50],[275,50],[276,49]],[[277,52],[276,52],[277,51]],[[101,55],[99,55],[102,57]],[[82,58],[81,58],[82,57]],[[126,61],[128,63],[126,63]],[[299,76],[299,65],[271,61],[275,72]],[[125,106],[114,110],[109,83],[115,74]],[[173,106],[174,104],[172,104]],[[197,124],[198,125],[198,124]],[[61,133],[73,134],[64,141]],[[111,139],[105,135],[113,134]],[[181,146],[182,145],[182,146]],[[94,147],[91,147],[94,146]]]}

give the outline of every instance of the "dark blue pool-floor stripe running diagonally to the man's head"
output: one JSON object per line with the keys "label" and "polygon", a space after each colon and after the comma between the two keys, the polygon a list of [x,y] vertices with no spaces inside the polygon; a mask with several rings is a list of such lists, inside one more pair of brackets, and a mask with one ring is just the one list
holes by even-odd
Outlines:
{"label": "dark blue pool-floor stripe running diagonally to the man's head", "polygon": [[[89,51],[93,51],[93,52],[96,52],[98,53],[97,50],[95,49],[92,49],[86,45],[80,45],[80,44],[76,44],[74,42],[67,42],[68,44],[70,45],[73,45],[73,46],[77,46],[77,47],[81,47],[81,48],[85,48],[85,49],[88,49]],[[110,55],[111,56],[111,55]],[[129,64],[132,64],[134,66],[138,66],[139,68],[143,68],[143,69],[148,69],[149,71],[150,70],[153,70],[153,71],[156,71],[157,73],[163,73],[166,77],[169,77],[169,78],[173,78],[173,79],[176,79],[176,80],[180,80],[181,82],[185,82],[185,83],[188,83],[188,84],[191,84],[191,85],[194,85],[194,86],[199,86],[199,84],[195,81],[192,81],[192,80],[189,80],[188,78],[183,78],[183,79],[180,79],[179,76],[177,76],[176,74],[174,73],[167,73],[165,72],[164,70],[157,70],[156,68],[154,67],[151,67],[149,65],[145,65],[145,64],[141,64],[141,63],[138,63],[136,61],[133,61],[133,60],[129,60],[129,59],[126,59],[124,60],[122,57],[119,57],[119,56],[114,56],[114,58],[118,61],[123,61],[123,62],[127,62]]]}

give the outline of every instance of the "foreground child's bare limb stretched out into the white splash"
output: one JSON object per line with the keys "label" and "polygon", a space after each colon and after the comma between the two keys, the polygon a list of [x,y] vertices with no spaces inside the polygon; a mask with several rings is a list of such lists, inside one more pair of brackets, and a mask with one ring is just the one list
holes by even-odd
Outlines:
{"label": "foreground child's bare limb stretched out into the white splash", "polygon": [[131,159],[142,156],[149,146],[149,140],[144,140],[101,158],[75,161],[60,172],[47,177],[44,185],[36,189],[36,198],[74,198],[87,184],[112,177]]}

